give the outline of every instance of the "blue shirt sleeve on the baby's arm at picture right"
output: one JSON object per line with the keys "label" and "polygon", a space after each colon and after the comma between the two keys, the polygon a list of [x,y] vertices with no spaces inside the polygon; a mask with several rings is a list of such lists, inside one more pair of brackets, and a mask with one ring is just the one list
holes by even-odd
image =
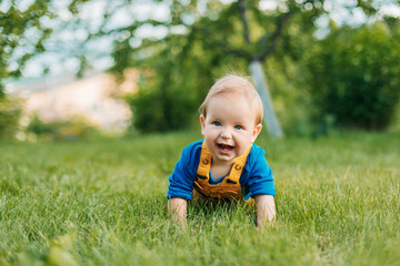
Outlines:
{"label": "blue shirt sleeve on the baby's arm at picture right", "polygon": [[252,167],[248,181],[250,196],[272,195],[276,196],[272,170],[268,166],[264,152],[260,149],[252,158]]}

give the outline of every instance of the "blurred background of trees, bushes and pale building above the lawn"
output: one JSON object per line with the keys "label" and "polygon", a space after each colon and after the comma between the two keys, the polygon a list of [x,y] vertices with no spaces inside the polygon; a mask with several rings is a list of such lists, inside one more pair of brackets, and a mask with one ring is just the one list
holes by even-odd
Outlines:
{"label": "blurred background of trees, bushes and pale building above the lawn", "polygon": [[399,0],[1,0],[0,139],[198,127],[227,73],[270,135],[399,131]]}

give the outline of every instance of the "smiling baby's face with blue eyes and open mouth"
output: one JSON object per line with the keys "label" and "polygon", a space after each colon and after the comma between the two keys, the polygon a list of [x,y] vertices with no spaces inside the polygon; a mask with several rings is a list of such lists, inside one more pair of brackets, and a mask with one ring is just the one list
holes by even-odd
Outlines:
{"label": "smiling baby's face with blue eyes and open mouth", "polygon": [[223,93],[211,99],[200,123],[213,164],[232,164],[248,150],[261,130],[254,121],[254,108],[246,96]]}

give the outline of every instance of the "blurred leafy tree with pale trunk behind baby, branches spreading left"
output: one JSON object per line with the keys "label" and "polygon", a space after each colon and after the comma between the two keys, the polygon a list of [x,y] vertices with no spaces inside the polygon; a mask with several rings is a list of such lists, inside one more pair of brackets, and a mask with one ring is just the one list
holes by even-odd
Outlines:
{"label": "blurred leafy tree with pale trunk behind baby, branches spreading left", "polygon": [[[137,108],[134,122],[140,130],[187,126],[189,114],[197,110],[199,99],[203,99],[212,80],[228,72],[226,65],[230,65],[239,71],[250,70],[264,100],[267,127],[278,136],[282,131],[268,96],[263,66],[269,66],[267,78],[276,85],[277,68],[280,65],[287,72],[287,63],[299,60],[308,51],[317,28],[316,20],[328,12],[323,0],[237,0],[226,3],[218,0],[72,0],[68,4],[69,12],[79,14],[83,10],[80,4],[86,2],[104,4],[103,19],[94,23],[94,28],[84,17],[71,18],[74,28],[87,32],[86,41],[92,43],[91,49],[101,38],[112,38],[111,70],[120,73],[129,66],[141,70],[141,92],[128,99],[132,108]],[[7,11],[0,12],[3,64],[0,81],[18,76],[29,58],[48,49],[44,40],[49,38],[51,27],[42,23],[43,18],[57,17],[52,8],[54,1],[37,0],[24,11],[19,1],[8,3]],[[267,7],[270,4],[274,7]],[[162,6],[168,16],[146,17],[143,13],[151,14],[152,10],[141,13],[142,6],[150,9]],[[367,16],[377,11],[372,0],[352,1],[348,8],[362,8]],[[158,33],[143,35],[143,32]],[[82,62],[78,72],[81,73],[88,65],[84,48],[77,57]],[[271,69],[271,62],[276,69]]]}

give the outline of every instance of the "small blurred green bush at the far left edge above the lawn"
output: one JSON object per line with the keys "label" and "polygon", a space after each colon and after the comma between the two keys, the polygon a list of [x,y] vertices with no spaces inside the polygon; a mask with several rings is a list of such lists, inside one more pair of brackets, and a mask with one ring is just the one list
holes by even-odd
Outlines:
{"label": "small blurred green bush at the far left edge above the lawn", "polygon": [[0,139],[12,139],[18,129],[21,106],[18,100],[0,98]]}

